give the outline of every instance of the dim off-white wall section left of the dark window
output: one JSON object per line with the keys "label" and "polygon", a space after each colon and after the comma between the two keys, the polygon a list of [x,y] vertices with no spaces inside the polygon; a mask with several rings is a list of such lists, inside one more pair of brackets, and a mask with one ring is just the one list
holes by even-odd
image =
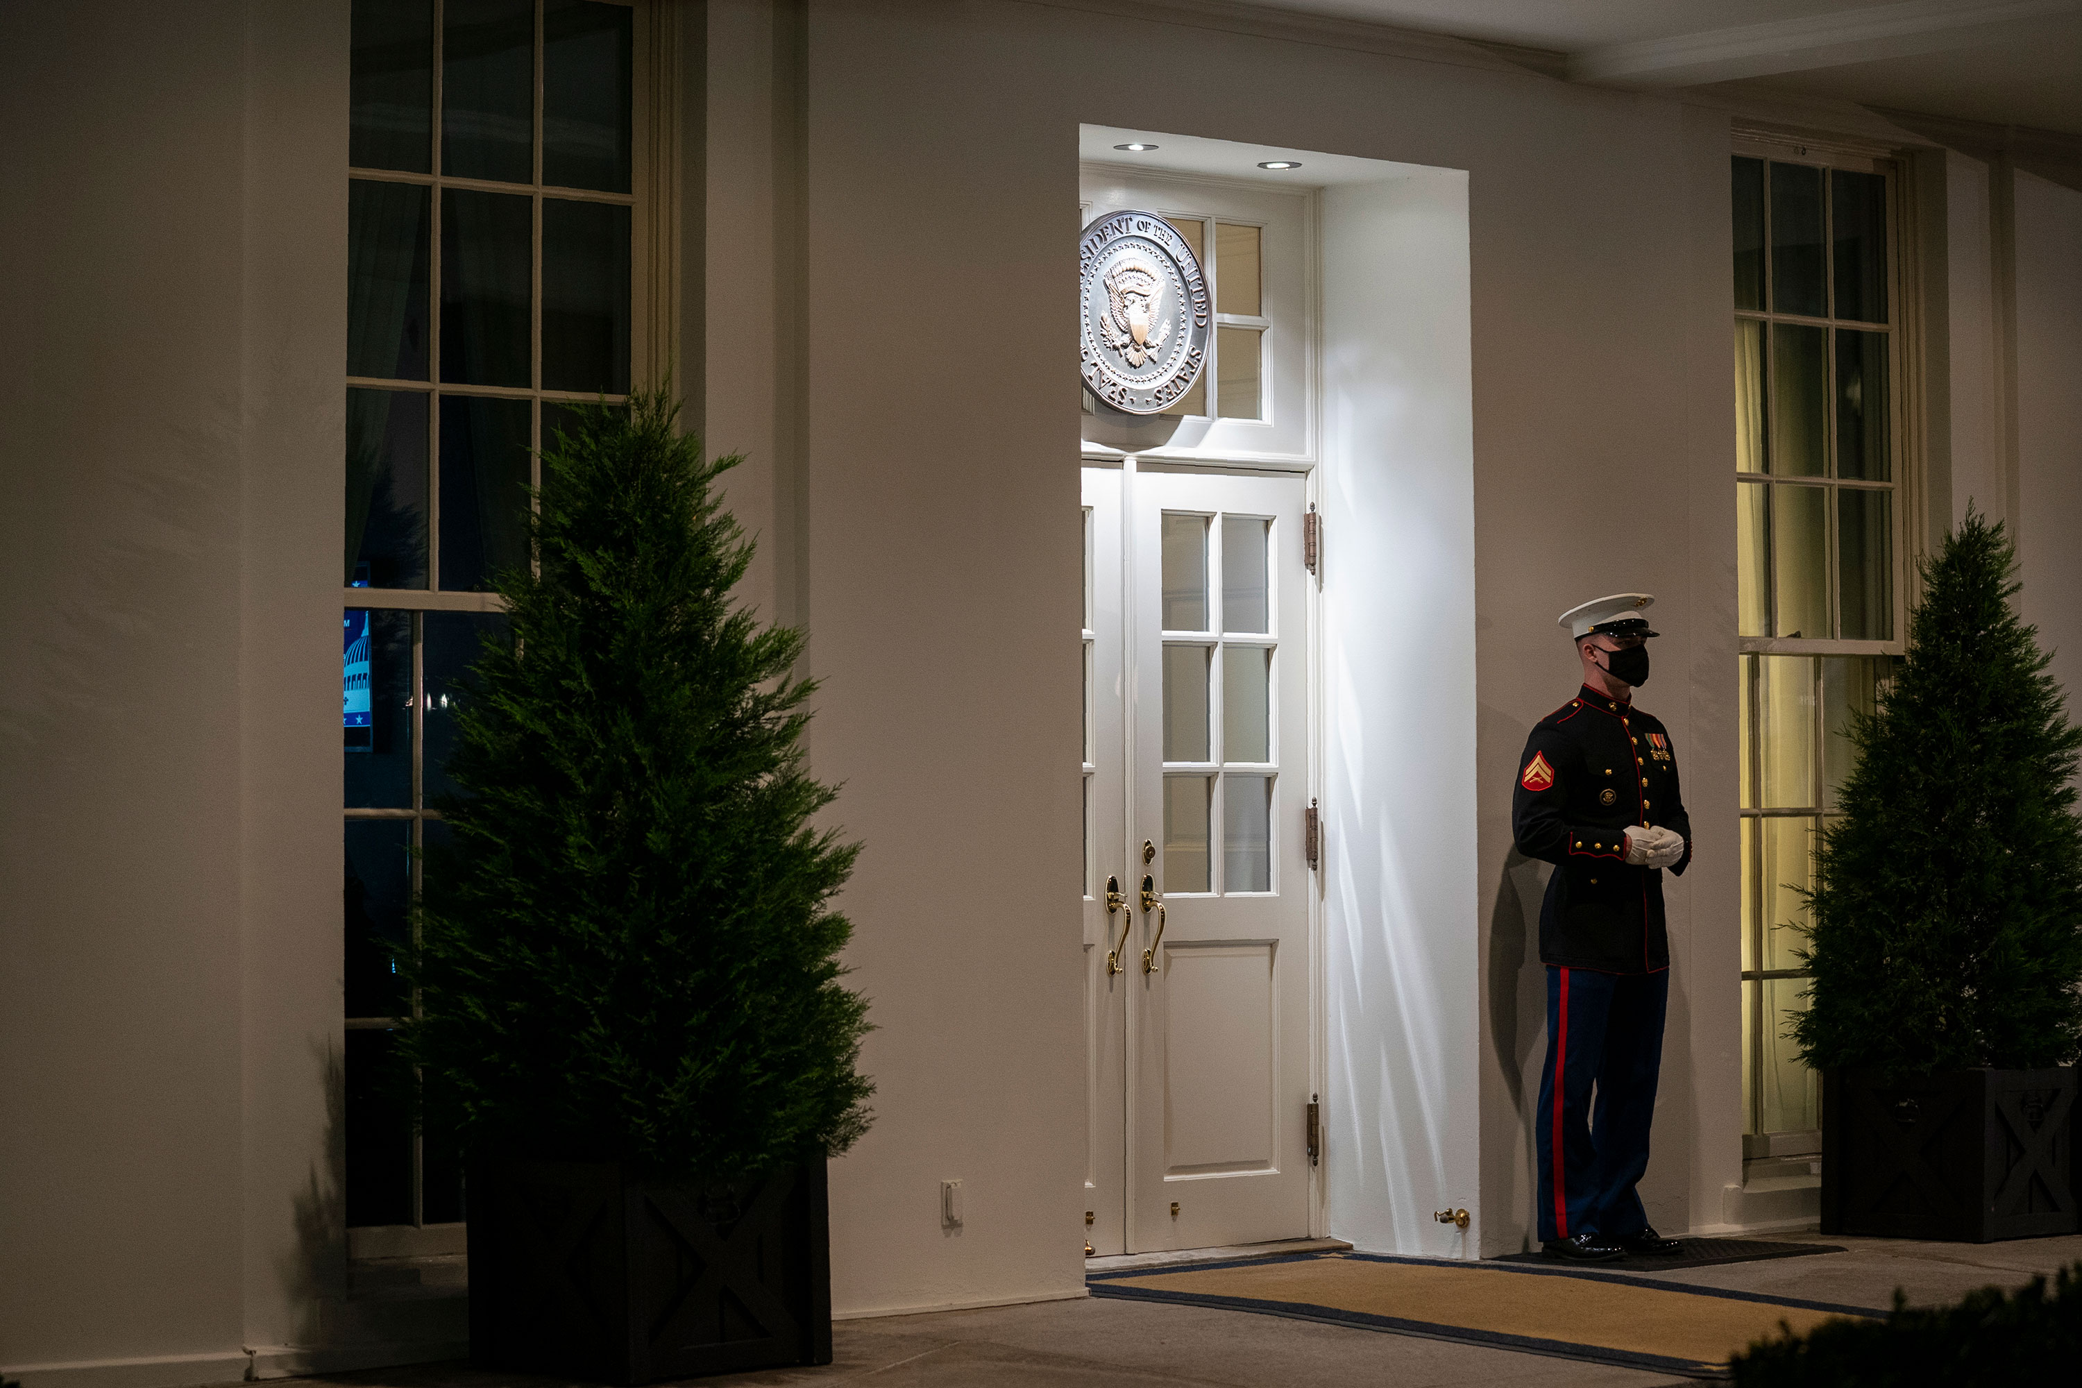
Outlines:
{"label": "dim off-white wall section left of the dark window", "polygon": [[[346,6],[0,10],[0,1365],[337,1290]],[[71,1371],[67,1371],[71,1365]]]}

